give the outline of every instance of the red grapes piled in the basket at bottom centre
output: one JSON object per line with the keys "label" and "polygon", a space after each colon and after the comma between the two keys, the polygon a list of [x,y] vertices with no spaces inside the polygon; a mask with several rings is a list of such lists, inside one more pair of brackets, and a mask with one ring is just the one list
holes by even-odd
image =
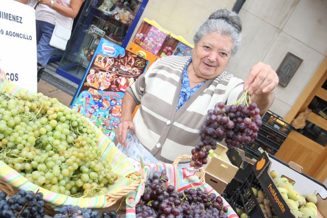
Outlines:
{"label": "red grapes piled in the basket at bottom centre", "polygon": [[228,208],[220,196],[197,189],[175,192],[167,183],[166,171],[155,171],[146,181],[143,196],[136,205],[137,218],[227,218]]}

